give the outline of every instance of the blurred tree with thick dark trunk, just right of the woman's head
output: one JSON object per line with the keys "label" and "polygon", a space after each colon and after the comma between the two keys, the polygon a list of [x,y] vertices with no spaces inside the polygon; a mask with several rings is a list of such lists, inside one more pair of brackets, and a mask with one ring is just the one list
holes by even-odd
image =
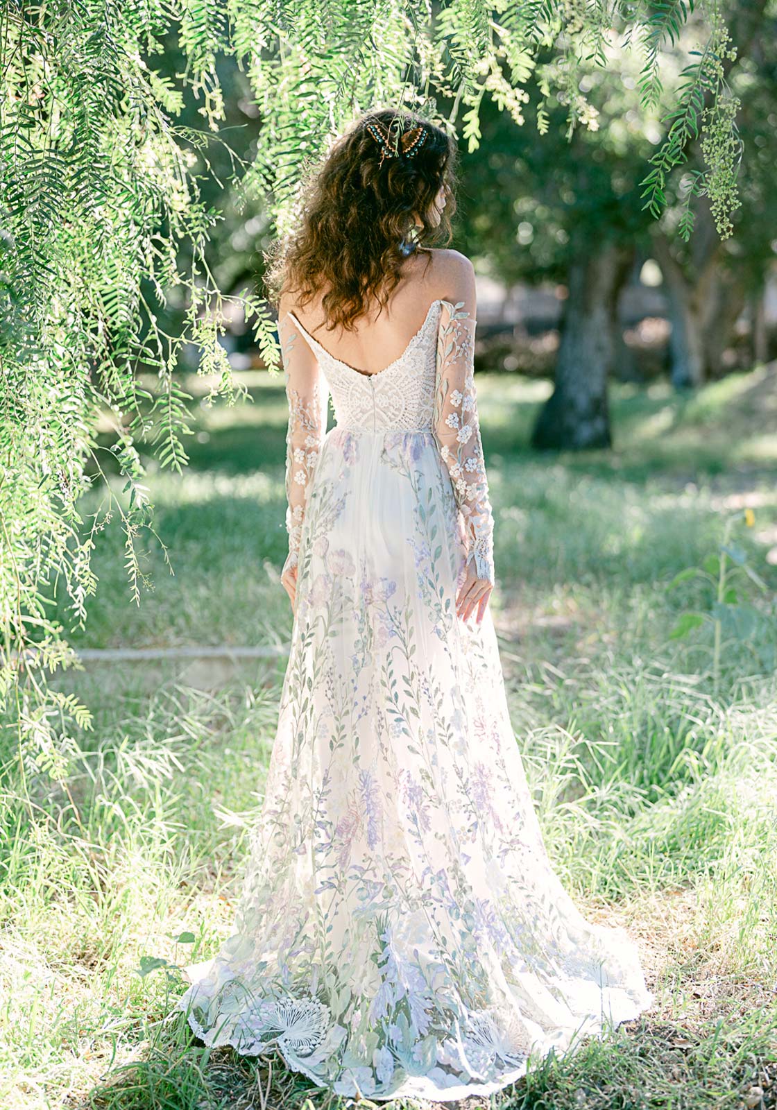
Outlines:
{"label": "blurred tree with thick dark trunk, just right of the woman's head", "polygon": [[[549,128],[516,129],[487,112],[483,154],[472,160],[465,194],[487,205],[465,214],[467,245],[512,282],[551,279],[566,286],[553,395],[532,436],[537,448],[610,445],[607,382],[622,349],[618,299],[635,250],[655,221],[644,209],[639,179],[655,149],[657,125],[638,112],[638,73],[628,65],[592,70],[586,87],[598,109],[596,130],[564,137],[562,107]],[[532,113],[536,105],[527,105]],[[654,143],[650,142],[654,138]],[[507,231],[507,233],[506,233]]]}

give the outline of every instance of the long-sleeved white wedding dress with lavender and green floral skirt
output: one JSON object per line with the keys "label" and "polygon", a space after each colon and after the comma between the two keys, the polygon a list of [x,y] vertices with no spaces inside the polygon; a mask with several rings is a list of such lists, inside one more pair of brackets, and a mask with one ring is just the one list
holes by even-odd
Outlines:
{"label": "long-sleeved white wedding dress with lavender and green floral skirt", "polygon": [[291,654],[234,935],[178,1006],[342,1096],[487,1094],[654,999],[551,867],[490,608],[455,612],[468,559],[493,582],[474,332],[436,300],[367,374],[280,322]]}

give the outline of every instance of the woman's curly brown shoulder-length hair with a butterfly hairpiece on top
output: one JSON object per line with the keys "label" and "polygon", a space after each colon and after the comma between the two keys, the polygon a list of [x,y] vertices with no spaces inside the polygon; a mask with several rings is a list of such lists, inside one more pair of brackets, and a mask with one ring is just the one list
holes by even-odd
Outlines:
{"label": "woman's curly brown shoulder-length hair with a butterfly hairpiece on top", "polygon": [[[374,138],[375,124],[393,157]],[[403,153],[402,135],[418,127],[423,141]],[[278,307],[281,294],[291,293],[304,305],[324,290],[327,329],[353,331],[371,302],[387,304],[408,248],[426,253],[428,265],[430,245],[451,241],[455,173],[456,143],[442,128],[391,108],[363,112],[309,176],[299,229],[265,254],[271,303]],[[430,216],[441,186],[446,206],[435,226]]]}

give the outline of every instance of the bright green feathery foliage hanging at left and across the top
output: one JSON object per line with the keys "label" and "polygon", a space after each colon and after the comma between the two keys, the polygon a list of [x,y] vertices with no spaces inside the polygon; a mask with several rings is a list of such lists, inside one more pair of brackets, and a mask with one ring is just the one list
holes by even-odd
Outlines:
{"label": "bright green feathery foliage hanging at left and across the top", "polygon": [[[138,444],[162,466],[180,471],[188,461],[191,398],[175,373],[182,347],[195,347],[200,373],[216,374],[215,394],[233,403],[241,390],[220,337],[228,301],[236,300],[266,363],[280,362],[270,305],[250,292],[224,296],[205,262],[220,214],[202,201],[194,168],[221,141],[219,60],[236,60],[261,119],[255,159],[236,165],[230,184],[243,199],[259,198],[283,233],[301,176],[361,110],[411,108],[461,128],[473,151],[484,100],[522,125],[535,82],[546,105],[566,107],[569,132],[595,128],[579,67],[610,64],[630,42],[644,54],[640,97],[649,110],[662,51],[692,16],[707,38],[646,168],[646,205],[662,211],[670,174],[703,133],[708,169],[692,188],[713,196],[725,234],[738,162],[719,64],[730,44],[717,11],[702,20],[692,0],[4,0],[0,705],[19,731],[23,770],[63,774],[56,751],[58,743],[67,748],[67,722],[89,726],[88,709],[46,680],[47,670],[74,660],[49,595],[63,582],[73,623],[83,624],[97,585],[95,535],[114,515],[140,599],[135,542],[153,531],[153,507]],[[176,42],[186,62],[174,80],[158,64],[165,42]],[[202,130],[180,122],[185,97],[199,99]],[[547,119],[541,103],[541,131]],[[159,322],[171,300],[185,305],[176,334]],[[155,374],[153,390],[139,381],[140,367],[144,381]],[[98,414],[112,420],[110,448],[98,446]],[[84,522],[78,501],[92,481],[87,464],[104,478],[105,450],[123,488],[104,481],[103,507]]]}

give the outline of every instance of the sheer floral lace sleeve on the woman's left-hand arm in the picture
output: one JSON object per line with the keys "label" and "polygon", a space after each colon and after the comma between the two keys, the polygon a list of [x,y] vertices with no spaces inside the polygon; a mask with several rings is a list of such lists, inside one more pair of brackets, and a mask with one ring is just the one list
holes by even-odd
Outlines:
{"label": "sheer floral lace sleeve on the woman's left-hand arm in the picture", "polygon": [[297,565],[307,493],[326,434],[329,386],[290,313],[279,322],[278,332],[289,402],[285,478],[289,555],[283,564],[285,572]]}

